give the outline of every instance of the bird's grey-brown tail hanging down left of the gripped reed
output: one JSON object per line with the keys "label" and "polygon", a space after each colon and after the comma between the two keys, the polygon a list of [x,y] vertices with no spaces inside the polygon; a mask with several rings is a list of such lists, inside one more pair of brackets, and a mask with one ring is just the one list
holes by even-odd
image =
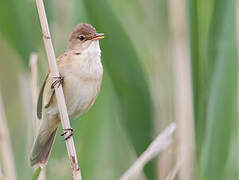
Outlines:
{"label": "bird's grey-brown tail hanging down left of the gripped reed", "polygon": [[48,121],[42,121],[30,156],[31,166],[44,167],[47,164],[56,136],[58,121],[53,120],[55,123],[51,122],[51,124],[48,124]]}

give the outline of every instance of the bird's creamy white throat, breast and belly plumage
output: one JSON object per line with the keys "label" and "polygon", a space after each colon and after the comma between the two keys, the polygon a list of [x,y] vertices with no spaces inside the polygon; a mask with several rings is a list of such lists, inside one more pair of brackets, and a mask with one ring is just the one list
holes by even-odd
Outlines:
{"label": "bird's creamy white throat, breast and belly plumage", "polygon": [[[78,117],[87,111],[98,96],[103,76],[100,56],[99,43],[93,42],[81,53],[66,52],[58,58],[58,69],[64,78],[67,111],[71,117]],[[58,114],[55,96],[47,112]]]}

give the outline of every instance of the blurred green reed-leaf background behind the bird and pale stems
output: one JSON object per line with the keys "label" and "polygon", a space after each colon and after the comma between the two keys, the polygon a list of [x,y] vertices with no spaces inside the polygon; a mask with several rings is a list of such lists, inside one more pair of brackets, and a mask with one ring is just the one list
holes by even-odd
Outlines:
{"label": "blurred green reed-leaf background behind the bird and pale stems", "polygon": [[[178,33],[171,21],[182,17],[171,17],[177,12],[171,12],[175,9],[170,3],[174,0],[45,0],[57,56],[80,22],[105,33],[100,42],[101,92],[88,113],[71,121],[83,179],[118,179],[174,121],[172,34]],[[236,7],[235,0],[186,0],[195,179],[238,179]],[[18,179],[30,179],[33,174],[28,163],[33,141],[31,52],[39,56],[40,85],[48,65],[35,1],[0,0],[0,89]],[[60,133],[46,168],[47,179],[71,179]],[[175,148],[172,151],[146,165],[140,178],[165,179],[175,164]]]}

